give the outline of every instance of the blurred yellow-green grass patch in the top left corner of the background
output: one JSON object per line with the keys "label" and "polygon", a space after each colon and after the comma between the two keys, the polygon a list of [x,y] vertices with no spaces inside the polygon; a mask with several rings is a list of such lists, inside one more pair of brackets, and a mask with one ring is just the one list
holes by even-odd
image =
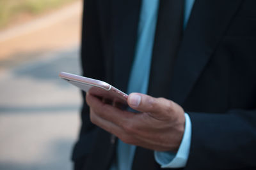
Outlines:
{"label": "blurred yellow-green grass patch in the top left corner of the background", "polygon": [[19,15],[38,15],[71,1],[76,0],[0,0],[0,28]]}

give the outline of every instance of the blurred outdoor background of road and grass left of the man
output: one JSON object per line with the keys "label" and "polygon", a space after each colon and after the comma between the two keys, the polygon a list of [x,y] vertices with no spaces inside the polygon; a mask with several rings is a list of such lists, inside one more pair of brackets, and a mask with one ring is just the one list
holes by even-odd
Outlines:
{"label": "blurred outdoor background of road and grass left of the man", "polygon": [[0,169],[71,169],[81,0],[0,0]]}

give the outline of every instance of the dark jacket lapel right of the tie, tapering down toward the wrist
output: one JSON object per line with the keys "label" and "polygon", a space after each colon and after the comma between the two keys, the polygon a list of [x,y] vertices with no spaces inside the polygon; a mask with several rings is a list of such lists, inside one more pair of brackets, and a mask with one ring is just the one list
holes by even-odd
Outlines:
{"label": "dark jacket lapel right of the tie, tapering down toward the wrist", "polygon": [[184,103],[218,43],[227,31],[241,0],[196,0],[173,70],[170,97]]}

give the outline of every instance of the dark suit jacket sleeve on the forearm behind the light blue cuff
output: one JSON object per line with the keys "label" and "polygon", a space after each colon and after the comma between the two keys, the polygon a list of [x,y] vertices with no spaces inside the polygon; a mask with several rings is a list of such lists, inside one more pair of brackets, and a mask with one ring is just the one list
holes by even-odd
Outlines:
{"label": "dark suit jacket sleeve on the forearm behind the light blue cuff", "polygon": [[186,169],[256,167],[256,110],[189,113],[191,149]]}

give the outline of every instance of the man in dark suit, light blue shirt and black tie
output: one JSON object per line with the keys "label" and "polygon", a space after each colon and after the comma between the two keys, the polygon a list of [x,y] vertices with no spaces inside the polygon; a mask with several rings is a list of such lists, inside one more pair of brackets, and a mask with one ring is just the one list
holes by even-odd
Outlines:
{"label": "man in dark suit, light blue shirt and black tie", "polygon": [[129,95],[132,113],[83,94],[76,169],[256,168],[256,3],[196,0],[184,22],[180,2],[160,1],[150,26],[147,1],[84,3],[84,76],[148,95]]}

